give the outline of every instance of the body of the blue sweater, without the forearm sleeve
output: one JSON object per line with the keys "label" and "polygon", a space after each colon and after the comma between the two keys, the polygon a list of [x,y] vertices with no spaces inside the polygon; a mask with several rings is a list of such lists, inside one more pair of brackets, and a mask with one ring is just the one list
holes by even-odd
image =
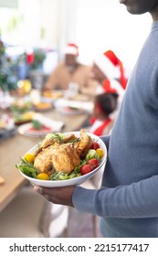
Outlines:
{"label": "body of the blue sweater, without the forearm sleeve", "polygon": [[[133,69],[111,132],[102,186],[125,186],[158,175],[157,42],[158,23],[155,23]],[[156,218],[103,218],[100,226],[105,237],[158,236]]]}

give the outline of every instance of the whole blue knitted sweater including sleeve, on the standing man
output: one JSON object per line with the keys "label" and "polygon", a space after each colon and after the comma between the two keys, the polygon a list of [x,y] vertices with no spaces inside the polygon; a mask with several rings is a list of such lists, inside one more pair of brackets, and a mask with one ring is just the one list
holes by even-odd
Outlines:
{"label": "whole blue knitted sweater including sleeve, on the standing man", "polygon": [[158,237],[158,22],[133,69],[99,190],[76,187],[74,207],[101,217],[103,237]]}

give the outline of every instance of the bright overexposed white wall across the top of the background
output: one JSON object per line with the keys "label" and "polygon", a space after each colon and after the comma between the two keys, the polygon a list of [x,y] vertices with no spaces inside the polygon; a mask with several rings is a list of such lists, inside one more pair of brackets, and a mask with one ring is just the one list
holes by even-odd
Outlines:
{"label": "bright overexposed white wall across the top of the background", "polygon": [[[132,16],[119,0],[18,1],[22,20],[7,38],[27,47],[57,46],[60,58],[65,44],[75,42],[85,63],[111,48],[131,70],[152,25],[149,14]],[[0,27],[11,17],[11,13],[3,14],[0,12]],[[43,39],[41,28],[46,31]]]}

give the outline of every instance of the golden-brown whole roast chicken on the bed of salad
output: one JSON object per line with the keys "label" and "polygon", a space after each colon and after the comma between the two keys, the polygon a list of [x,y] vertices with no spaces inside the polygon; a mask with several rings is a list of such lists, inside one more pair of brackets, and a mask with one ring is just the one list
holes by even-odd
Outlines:
{"label": "golden-brown whole roast chicken on the bed of salad", "polygon": [[37,149],[34,166],[47,175],[53,172],[71,173],[90,150],[92,139],[86,130],[80,130],[80,137],[73,133],[62,140],[44,139]]}

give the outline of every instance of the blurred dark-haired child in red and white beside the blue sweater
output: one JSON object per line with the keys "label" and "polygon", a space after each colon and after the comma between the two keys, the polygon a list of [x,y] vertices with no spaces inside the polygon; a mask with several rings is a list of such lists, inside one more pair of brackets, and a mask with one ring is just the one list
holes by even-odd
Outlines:
{"label": "blurred dark-haired child in red and white beside the blue sweater", "polygon": [[111,132],[114,120],[111,113],[117,109],[118,94],[115,92],[101,93],[96,95],[94,109],[90,117],[92,124],[89,132],[98,136]]}

